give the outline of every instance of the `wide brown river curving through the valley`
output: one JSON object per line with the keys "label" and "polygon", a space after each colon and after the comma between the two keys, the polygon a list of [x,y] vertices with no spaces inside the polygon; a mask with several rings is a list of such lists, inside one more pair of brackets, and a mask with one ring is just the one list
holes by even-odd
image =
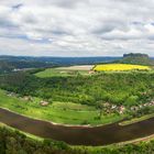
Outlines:
{"label": "wide brown river curving through the valley", "polygon": [[95,128],[64,127],[26,118],[0,108],[0,122],[37,136],[64,141],[70,145],[108,145],[154,133],[154,118],[124,127],[118,123]]}

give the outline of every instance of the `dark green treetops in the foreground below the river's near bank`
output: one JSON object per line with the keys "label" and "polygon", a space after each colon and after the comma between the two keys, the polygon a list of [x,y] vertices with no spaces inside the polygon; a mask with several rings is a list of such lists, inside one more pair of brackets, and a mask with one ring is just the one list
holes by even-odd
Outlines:
{"label": "dark green treetops in the foreground below the river's near bank", "polygon": [[154,141],[105,147],[72,147],[63,142],[34,140],[19,131],[0,128],[0,154],[152,154]]}

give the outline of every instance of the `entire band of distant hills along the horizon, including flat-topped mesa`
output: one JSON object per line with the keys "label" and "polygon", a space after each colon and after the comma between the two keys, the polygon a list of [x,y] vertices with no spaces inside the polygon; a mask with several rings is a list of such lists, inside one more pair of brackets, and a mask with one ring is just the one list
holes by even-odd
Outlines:
{"label": "entire band of distant hills along the horizon, including flat-topped mesa", "polygon": [[0,56],[0,74],[24,68],[46,68],[70,65],[95,65],[105,63],[154,65],[146,54],[124,54],[123,57],[29,57]]}

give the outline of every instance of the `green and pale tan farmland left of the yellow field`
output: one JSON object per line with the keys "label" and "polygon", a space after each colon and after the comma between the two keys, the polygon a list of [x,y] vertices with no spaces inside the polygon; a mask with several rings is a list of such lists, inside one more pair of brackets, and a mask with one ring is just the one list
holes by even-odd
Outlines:
{"label": "green and pale tan farmland left of the yellow field", "polygon": [[89,72],[92,69],[92,67],[94,65],[80,65],[80,66],[70,66],[70,67],[47,68],[35,75],[40,78],[90,75]]}

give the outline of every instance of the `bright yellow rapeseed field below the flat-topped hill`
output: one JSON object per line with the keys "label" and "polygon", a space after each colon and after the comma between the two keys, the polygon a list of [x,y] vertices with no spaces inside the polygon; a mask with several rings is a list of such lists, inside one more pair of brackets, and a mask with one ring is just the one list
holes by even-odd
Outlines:
{"label": "bright yellow rapeseed field below the flat-topped hill", "polygon": [[96,65],[94,70],[97,72],[123,72],[123,70],[150,70],[148,66],[142,65],[131,65],[131,64],[105,64],[105,65]]}

